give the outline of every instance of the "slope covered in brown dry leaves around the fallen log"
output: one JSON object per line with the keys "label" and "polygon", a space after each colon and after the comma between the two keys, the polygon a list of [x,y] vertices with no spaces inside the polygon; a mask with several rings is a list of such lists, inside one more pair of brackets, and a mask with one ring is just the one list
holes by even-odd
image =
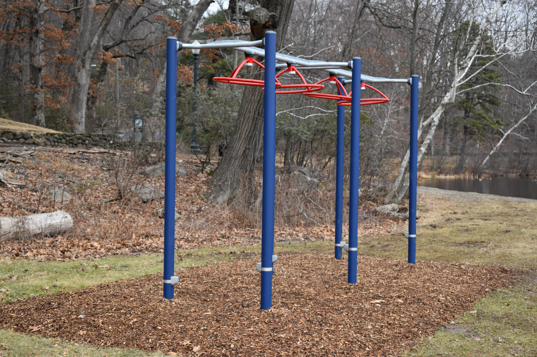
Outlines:
{"label": "slope covered in brown dry leaves around the fallen log", "polygon": [[[110,162],[117,160],[120,155],[113,154],[24,146],[0,151],[0,169],[12,176],[10,180],[26,184],[23,189],[13,185],[0,188],[0,215],[30,214],[21,206],[39,213],[61,209],[72,216],[75,224],[71,232],[55,237],[0,241],[0,257],[45,261],[161,252],[164,220],[155,217],[154,213],[163,207],[163,199],[142,203],[134,195],[128,195],[121,200],[103,202],[118,196]],[[2,162],[2,158],[18,162]],[[128,155],[125,160],[128,161]],[[154,160],[162,158],[155,156]],[[128,165],[134,164],[127,162]],[[206,173],[199,173],[199,162],[195,159],[183,158],[182,166],[188,176],[177,177],[176,210],[181,216],[176,221],[177,248],[260,242],[260,207],[259,212],[245,214],[231,207],[208,203],[210,177]],[[147,178],[136,173],[131,184],[150,184],[164,191],[164,175]],[[73,199],[69,202],[52,202],[47,192],[54,188],[65,189]],[[334,199],[331,189],[325,187],[301,192],[281,187],[277,194],[281,196],[277,199],[280,204],[277,207],[280,224],[277,222],[275,241],[333,239]],[[295,199],[296,205],[293,201],[286,206],[292,199]],[[345,199],[346,209],[348,196]],[[362,205],[371,209],[372,203],[364,200]],[[365,206],[361,207],[361,214],[367,211]],[[312,222],[311,217],[321,218]],[[360,233],[374,235],[394,230],[402,232],[405,221],[361,215],[360,223]]]}

